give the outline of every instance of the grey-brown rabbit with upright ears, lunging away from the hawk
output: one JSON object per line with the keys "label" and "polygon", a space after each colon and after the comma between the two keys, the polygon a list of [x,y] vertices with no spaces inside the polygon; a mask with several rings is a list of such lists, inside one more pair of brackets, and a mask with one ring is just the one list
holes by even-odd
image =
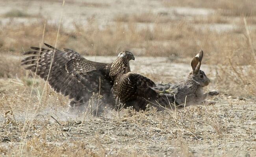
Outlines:
{"label": "grey-brown rabbit with upright ears, lunging away from the hawk", "polygon": [[[189,73],[188,78],[177,84],[158,84],[156,88],[159,93],[178,106],[184,107],[185,99],[186,106],[192,104],[202,104],[208,97],[218,95],[217,90],[211,90],[204,93],[203,87],[208,86],[210,79],[205,75],[204,71],[200,70],[201,61],[203,58],[203,51],[200,52],[191,60],[192,71]],[[166,90],[166,87],[169,89]]]}

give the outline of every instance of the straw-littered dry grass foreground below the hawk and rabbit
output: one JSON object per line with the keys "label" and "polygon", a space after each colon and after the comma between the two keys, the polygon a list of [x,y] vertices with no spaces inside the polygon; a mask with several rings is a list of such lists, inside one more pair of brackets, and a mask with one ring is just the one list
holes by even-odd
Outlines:
{"label": "straw-littered dry grass foreground below the hawk and rabbit", "polygon": [[[43,84],[41,82],[36,89]],[[0,155],[20,156],[21,151],[24,156],[43,153],[43,156],[53,157],[244,156],[255,153],[254,104],[225,97],[219,97],[215,106],[191,107],[184,111],[156,112],[150,108],[145,112],[122,110],[117,113],[108,110],[100,117],[80,114],[70,119],[72,115],[63,111],[60,99],[49,96],[48,105],[40,107],[32,127],[25,126],[28,134],[23,141],[20,138],[22,128],[24,122],[30,122],[36,101],[26,105],[28,98],[24,99],[24,95],[30,92],[30,86],[13,82],[6,82],[5,86],[9,88],[0,93]],[[16,89],[16,93],[8,90],[11,88]],[[22,149],[19,144],[24,144]]]}

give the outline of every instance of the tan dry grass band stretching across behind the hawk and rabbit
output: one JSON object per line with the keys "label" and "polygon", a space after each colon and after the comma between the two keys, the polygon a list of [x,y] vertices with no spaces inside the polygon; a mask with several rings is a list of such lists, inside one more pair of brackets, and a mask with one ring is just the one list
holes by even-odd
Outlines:
{"label": "tan dry grass band stretching across behind the hawk and rabbit", "polygon": [[[76,26],[73,32],[60,32],[58,47],[70,47],[83,55],[116,55],[124,49],[136,48],[145,49],[138,55],[166,57],[192,57],[199,49],[203,49],[207,53],[206,63],[227,65],[227,57],[230,57],[238,65],[248,65],[252,57],[243,28],[244,26],[239,26],[233,31],[219,33],[209,28],[195,27],[190,22],[176,21],[168,25],[156,23],[152,27],[141,29],[137,29],[135,23],[118,23],[99,29],[98,24],[92,22],[86,27]],[[39,46],[42,30],[42,23],[32,26],[5,26],[0,32],[1,52],[17,53],[22,51],[22,47],[28,50],[30,46]],[[56,30],[56,26],[46,26],[46,43],[54,43]],[[256,30],[253,29],[250,32],[252,41],[256,39],[255,34]]]}

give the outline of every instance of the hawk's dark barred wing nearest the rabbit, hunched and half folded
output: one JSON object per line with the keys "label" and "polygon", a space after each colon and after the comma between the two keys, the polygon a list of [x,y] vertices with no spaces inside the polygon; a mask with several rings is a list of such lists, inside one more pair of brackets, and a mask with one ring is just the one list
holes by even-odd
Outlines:
{"label": "hawk's dark barred wing nearest the rabbit, hunched and half folded", "polygon": [[133,106],[135,110],[145,110],[147,104],[152,104],[159,110],[161,106],[167,105],[167,102],[154,90],[155,83],[136,73],[126,73],[114,85],[114,93],[126,106]]}

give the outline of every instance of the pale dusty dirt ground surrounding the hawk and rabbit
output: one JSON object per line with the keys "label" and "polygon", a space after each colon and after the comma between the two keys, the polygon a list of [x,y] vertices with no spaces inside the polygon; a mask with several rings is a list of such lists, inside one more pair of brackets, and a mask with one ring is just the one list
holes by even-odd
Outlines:
{"label": "pale dusty dirt ground surrounding the hawk and rabbit", "polygon": [[[129,21],[131,19],[127,17],[132,15],[136,22],[136,25],[132,26],[136,27],[135,30],[147,28],[147,31],[156,31],[156,23],[157,26],[167,29],[172,26],[172,22],[187,20],[193,26],[191,32],[194,34],[191,36],[193,36],[192,38],[195,36],[195,43],[199,46],[201,43],[206,43],[205,47],[215,43],[218,45],[218,40],[212,37],[223,32],[226,34],[223,37],[220,35],[221,38],[228,34],[237,35],[242,32],[241,38],[248,44],[247,34],[240,31],[240,15],[237,15],[234,10],[223,12],[225,7],[230,7],[228,5],[229,1],[223,1],[224,4],[218,1],[216,6],[210,6],[208,1],[201,3],[200,0],[197,0],[197,2],[200,2],[199,7],[189,0],[183,0],[182,2],[175,0],[66,0],[62,9],[62,0],[0,0],[0,36],[4,34],[6,30],[3,30],[3,28],[6,28],[8,24],[11,24],[11,27],[20,25],[22,26],[20,29],[23,28],[23,24],[25,28],[32,24],[32,27],[25,31],[29,32],[34,31],[38,22],[40,24],[44,20],[58,26],[61,16],[63,17],[61,29],[65,30],[63,31],[64,35],[69,32],[82,34],[83,32],[77,29],[76,24],[87,26],[91,24],[91,19],[97,21],[97,31],[121,23],[130,27]],[[200,7],[201,5],[202,7]],[[245,7],[242,8],[243,10],[246,10],[251,5],[241,6]],[[237,10],[239,9],[241,8],[238,7]],[[248,27],[251,32],[254,32],[256,29],[256,15],[253,11],[250,11],[250,13],[252,15],[247,18],[250,22]],[[137,16],[137,14],[140,16]],[[152,22],[153,18],[159,18],[160,20]],[[33,24],[35,24],[35,27],[33,27]],[[116,28],[114,27],[114,29]],[[200,34],[197,37],[197,31],[194,29],[209,31],[209,38],[208,35],[201,37]],[[235,68],[233,68],[231,63],[229,65],[216,58],[221,53],[216,55],[214,52],[205,51],[205,60],[202,62],[201,69],[211,79],[211,83],[204,90],[217,89],[220,92],[218,96],[211,99],[216,102],[214,105],[189,106],[184,110],[166,110],[162,112],[157,112],[154,108],[143,112],[135,112],[130,109],[117,112],[105,108],[103,112],[95,116],[92,112],[97,108],[90,106],[90,104],[85,112],[78,113],[69,110],[67,97],[54,93],[49,86],[46,86],[44,90],[45,82],[42,79],[36,78],[33,80],[31,73],[19,66],[20,60],[23,58],[20,51],[22,51],[24,45],[28,45],[27,43],[35,42],[31,41],[31,38],[15,38],[20,35],[20,31],[22,30],[11,32],[12,37],[8,36],[5,38],[6,40],[0,40],[0,156],[256,156],[256,96],[254,91],[249,90],[252,89],[251,86],[255,81],[252,79],[250,84],[237,85],[240,83],[237,78],[246,78],[241,77],[241,71],[250,71],[247,69],[255,66],[249,61],[247,64],[239,63],[239,60],[247,61],[245,58],[253,58],[250,54],[247,54],[247,56],[234,53],[232,61],[235,62],[235,59],[238,58],[239,64],[236,63]],[[36,31],[38,30],[36,29]],[[134,30],[132,29],[132,31]],[[190,31],[190,28],[186,31]],[[212,34],[212,32],[216,34]],[[123,33],[121,32],[121,35]],[[173,34],[175,33],[173,32]],[[186,32],[184,31],[184,33]],[[41,29],[37,34],[41,35]],[[133,35],[136,34],[135,31]],[[80,39],[80,36],[67,36],[67,38],[71,37],[77,41],[72,40],[72,42],[65,44],[72,46],[74,42],[78,42]],[[112,34],[110,38],[102,38],[110,40],[111,37]],[[137,38],[137,36],[134,38]],[[157,83],[175,83],[185,79],[191,70],[190,60],[192,55],[190,52],[195,47],[191,50],[193,43],[188,44],[189,46],[186,47],[184,54],[177,53],[178,55],[176,55],[173,51],[176,49],[183,51],[185,49],[182,47],[184,45],[178,44],[182,40],[179,41],[176,38],[191,37],[178,34],[174,38],[175,41],[161,40],[158,37],[147,38],[149,38],[149,41],[143,41],[143,44],[139,43],[142,47],[134,46],[137,40],[135,40],[134,47],[129,47],[135,54],[135,61],[130,61],[131,71],[145,75]],[[154,38],[154,41],[151,41],[151,38]],[[203,38],[203,42],[198,38]],[[35,40],[41,41],[41,36]],[[63,38],[60,40],[61,42],[70,41]],[[132,38],[126,38],[125,40],[128,45],[133,44]],[[204,42],[207,40],[210,40],[210,45]],[[55,41],[55,39],[51,41]],[[87,39],[79,41],[88,42]],[[101,40],[97,39],[96,41]],[[113,41],[116,40],[113,39]],[[13,44],[19,42],[22,48],[15,47],[15,44]],[[91,42],[88,43],[91,44]],[[161,43],[162,47],[158,43]],[[256,49],[253,35],[251,43],[252,49]],[[83,46],[81,43],[76,44]],[[104,48],[111,47],[108,44],[106,43]],[[157,49],[167,51],[163,54],[170,54],[162,57],[156,51],[154,56],[147,55],[148,49],[152,47],[144,48],[143,46],[154,46],[154,44],[156,44]],[[169,44],[173,44],[174,47],[164,49]],[[20,44],[16,45],[20,46]],[[94,45],[94,43],[91,45]],[[237,44],[230,40],[223,47],[229,47],[225,51],[231,51],[233,47],[236,47],[236,51],[247,52],[250,51],[250,43],[248,45],[246,48],[237,48]],[[212,47],[212,49],[222,49],[223,47],[217,46]],[[28,47],[24,47],[24,49],[28,49]],[[77,49],[81,50],[80,47],[77,47]],[[91,49],[89,48],[89,50]],[[115,46],[114,50],[118,51],[119,45]],[[155,49],[152,51],[155,51]],[[220,51],[223,53],[224,50]],[[83,53],[83,55],[86,55],[86,53]],[[116,58],[115,53],[111,53],[113,56],[91,55],[85,57],[97,62],[112,62]],[[215,62],[211,62],[212,60],[215,60]],[[6,63],[10,64],[6,66]],[[223,72],[222,64],[224,67],[233,68],[232,72]],[[241,71],[239,71],[240,69]],[[233,77],[233,80],[224,80],[226,78],[230,79],[230,77],[223,77],[222,75],[230,75],[231,73],[234,74],[230,76]],[[248,72],[248,76],[254,77],[255,70],[252,73]],[[92,102],[96,101],[96,99],[92,99]],[[101,104],[101,106],[104,106],[104,104]]]}

